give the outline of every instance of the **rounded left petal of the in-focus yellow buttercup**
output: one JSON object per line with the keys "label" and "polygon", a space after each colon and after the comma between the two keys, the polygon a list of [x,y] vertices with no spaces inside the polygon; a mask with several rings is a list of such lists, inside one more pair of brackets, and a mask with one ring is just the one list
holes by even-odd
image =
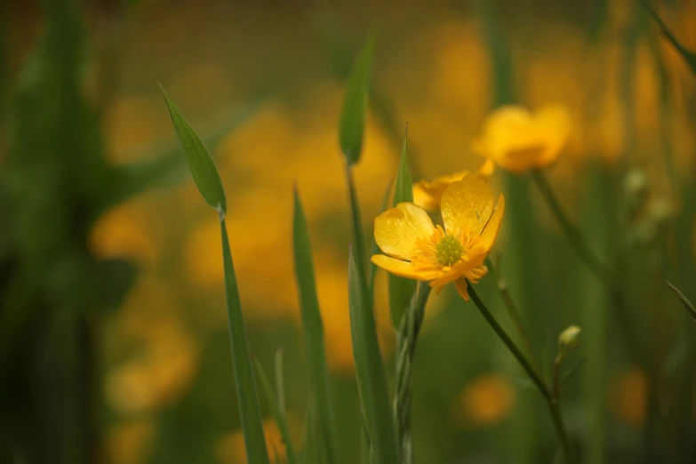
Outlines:
{"label": "rounded left petal of the in-focus yellow buttercup", "polygon": [[374,220],[374,240],[381,251],[401,260],[410,260],[417,241],[434,231],[428,213],[412,203],[397,204]]}

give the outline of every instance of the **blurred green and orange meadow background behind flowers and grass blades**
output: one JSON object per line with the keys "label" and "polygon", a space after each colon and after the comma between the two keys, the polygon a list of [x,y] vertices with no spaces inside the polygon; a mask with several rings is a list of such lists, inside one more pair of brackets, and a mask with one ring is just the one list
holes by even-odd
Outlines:
{"label": "blurred green and orange meadow background behind flowers and grass blades", "polygon": [[[696,2],[655,6],[696,47]],[[529,181],[498,172],[492,188],[508,192],[510,211],[502,275],[545,364],[564,327],[585,331],[574,356],[587,363],[564,392],[583,461],[696,460],[696,328],[664,285],[668,277],[696,300],[694,76],[638,2],[4,0],[0,462],[245,462],[218,220],[189,179],[156,82],[220,168],[252,351],[267,371],[283,351],[298,444],[308,404],[292,261],[292,183],[300,188],[341,459],[356,462],[337,123],[371,26],[380,38],[356,170],[365,236],[404,124],[414,180],[431,179],[476,170],[471,141],[495,106],[566,105],[572,140],[549,179],[597,253],[622,263],[634,340],[660,372],[629,354],[604,287]],[[377,279],[393,372],[387,279]],[[480,287],[511,328],[492,277]],[[416,459],[551,462],[544,404],[474,308],[446,288],[427,313],[414,367]]]}

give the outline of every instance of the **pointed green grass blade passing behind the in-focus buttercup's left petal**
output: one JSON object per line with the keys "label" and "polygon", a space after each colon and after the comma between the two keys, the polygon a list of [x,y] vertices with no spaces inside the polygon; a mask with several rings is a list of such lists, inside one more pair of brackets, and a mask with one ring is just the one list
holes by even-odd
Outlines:
{"label": "pointed green grass blade passing behind the in-focus buttercup's left petal", "polygon": [[[413,202],[413,181],[411,166],[408,162],[408,125],[404,132],[404,144],[401,148],[401,161],[396,172],[394,184],[394,202],[392,206],[404,202]],[[401,316],[411,304],[411,297],[416,291],[416,281],[389,274],[389,310],[391,322],[396,329],[401,323]]]}

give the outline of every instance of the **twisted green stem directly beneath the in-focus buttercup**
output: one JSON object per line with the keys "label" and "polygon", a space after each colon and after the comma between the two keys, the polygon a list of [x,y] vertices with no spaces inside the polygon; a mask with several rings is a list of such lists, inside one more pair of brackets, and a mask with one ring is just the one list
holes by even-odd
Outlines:
{"label": "twisted green stem directly beneath the in-focus buttercup", "polygon": [[396,394],[394,396],[394,422],[396,440],[402,464],[413,464],[413,441],[411,435],[411,380],[413,354],[425,316],[425,307],[430,294],[430,285],[420,282],[411,299],[411,304],[401,317],[396,334]]}

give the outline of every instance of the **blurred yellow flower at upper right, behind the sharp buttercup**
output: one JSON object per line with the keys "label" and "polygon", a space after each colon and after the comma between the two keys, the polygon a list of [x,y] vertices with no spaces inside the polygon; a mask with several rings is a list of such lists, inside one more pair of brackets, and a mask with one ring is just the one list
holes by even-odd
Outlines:
{"label": "blurred yellow flower at upper right, behind the sharp buttercup", "polygon": [[512,172],[553,164],[571,132],[568,109],[548,105],[531,113],[516,106],[500,107],[484,121],[474,151]]}

